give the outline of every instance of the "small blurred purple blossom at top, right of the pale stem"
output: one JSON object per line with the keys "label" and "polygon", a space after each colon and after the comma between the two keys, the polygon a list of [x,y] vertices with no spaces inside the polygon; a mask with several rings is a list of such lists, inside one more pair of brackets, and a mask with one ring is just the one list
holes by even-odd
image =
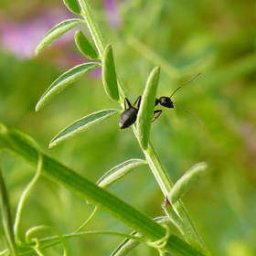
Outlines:
{"label": "small blurred purple blossom at top, right of the pale stem", "polygon": [[117,8],[117,1],[115,0],[104,0],[104,6],[106,16],[112,27],[121,27],[122,20]]}

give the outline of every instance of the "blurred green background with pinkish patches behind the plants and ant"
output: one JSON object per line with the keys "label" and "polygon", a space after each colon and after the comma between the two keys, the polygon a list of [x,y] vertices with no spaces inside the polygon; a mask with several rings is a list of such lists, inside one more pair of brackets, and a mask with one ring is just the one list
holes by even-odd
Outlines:
{"label": "blurred green background with pinkish patches behind the plants and ant", "polygon": [[[131,101],[142,94],[147,76],[159,64],[159,97],[170,96],[178,85],[202,72],[172,99],[196,114],[204,126],[178,108],[164,109],[152,126],[151,139],[174,181],[192,165],[208,164],[207,174],[187,192],[184,203],[209,251],[219,256],[256,255],[255,1],[106,0],[91,1],[91,5],[103,37],[112,44]],[[53,80],[87,61],[73,42],[75,30],[34,56],[48,30],[71,17],[60,0],[1,1],[0,121],[30,134],[47,155],[96,182],[114,165],[144,155],[131,129],[119,129],[118,116],[48,149],[53,136],[69,123],[104,108],[120,108],[105,95],[101,72],[95,70],[35,112],[38,99]],[[79,28],[91,39],[86,27]],[[15,214],[34,170],[9,154],[3,155],[1,165]],[[147,166],[110,190],[152,218],[163,215],[164,198]],[[27,201],[21,237],[35,225],[69,233],[91,210],[91,205],[42,177]],[[131,231],[101,211],[87,229]],[[5,248],[0,232],[0,248]],[[71,255],[85,255],[85,251],[86,255],[110,255],[121,240],[73,239],[69,251]],[[58,246],[46,251],[46,255],[60,253]],[[141,245],[131,255],[158,253]]]}

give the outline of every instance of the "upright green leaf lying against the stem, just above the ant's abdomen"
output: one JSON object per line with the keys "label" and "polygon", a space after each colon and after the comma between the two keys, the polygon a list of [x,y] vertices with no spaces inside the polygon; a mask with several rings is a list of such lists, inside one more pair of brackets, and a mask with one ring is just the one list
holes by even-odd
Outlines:
{"label": "upright green leaf lying against the stem, just above the ant's abdomen", "polygon": [[116,80],[111,45],[106,46],[102,56],[102,82],[107,95],[113,101],[119,101],[119,91]]}

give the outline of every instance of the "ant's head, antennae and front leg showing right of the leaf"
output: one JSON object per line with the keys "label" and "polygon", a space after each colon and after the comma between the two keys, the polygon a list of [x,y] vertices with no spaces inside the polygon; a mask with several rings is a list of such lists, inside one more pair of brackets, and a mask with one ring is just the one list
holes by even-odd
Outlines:
{"label": "ant's head, antennae and front leg showing right of the leaf", "polygon": [[[192,80],[195,80],[200,74],[201,74],[201,72],[200,72],[199,74],[197,74],[197,76],[194,77]],[[183,87],[184,85],[186,85],[187,83],[189,83],[189,82],[192,81],[192,80],[188,80],[186,83],[180,85],[180,86],[176,89],[176,91],[178,91],[181,87]],[[176,91],[174,91],[170,97],[162,96],[162,97],[160,97],[159,99],[156,98],[156,99],[155,99],[155,106],[158,105],[158,104],[160,104],[161,106],[163,106],[163,107],[165,107],[165,108],[174,109],[174,107],[175,107],[175,106],[174,106],[174,103],[175,103],[176,106],[178,106],[182,111],[187,112],[187,111],[184,110],[180,105],[178,105],[176,102],[174,102],[174,101],[171,100],[172,96],[176,93]],[[154,122],[154,121],[160,116],[160,114],[162,113],[161,110],[155,111],[155,112],[157,112],[157,114],[154,116],[153,122]],[[154,113],[155,113],[155,112],[154,112]],[[187,112],[187,113],[189,113],[190,115],[192,115],[194,118],[197,119],[197,121],[198,121],[201,125],[203,125],[203,123],[201,122],[201,120],[200,120],[196,115],[192,114],[191,112]]]}

